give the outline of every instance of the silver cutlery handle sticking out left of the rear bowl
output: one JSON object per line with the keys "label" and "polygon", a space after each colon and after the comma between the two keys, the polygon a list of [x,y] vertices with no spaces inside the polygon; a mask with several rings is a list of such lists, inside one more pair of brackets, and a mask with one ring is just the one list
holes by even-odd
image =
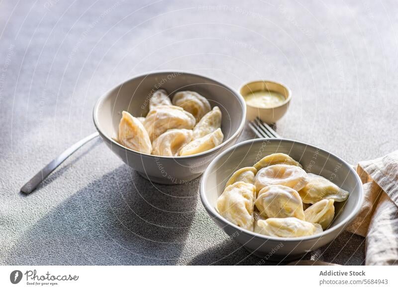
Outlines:
{"label": "silver cutlery handle sticking out left of the rear bowl", "polygon": [[98,136],[98,132],[93,133],[92,135],[89,135],[86,138],[78,141],[74,145],[70,146],[68,149],[59,154],[55,159],[51,160],[51,162],[48,163],[43,169],[37,172],[36,175],[33,176],[28,182],[26,182],[25,185],[22,186],[21,191],[26,194],[32,193],[37,188],[37,186],[39,186],[40,183],[42,183],[44,179],[46,179],[46,177],[55,170],[55,168],[57,168],[62,162],[66,160],[66,158],[72,155],[72,153],[74,153],[81,146],[85,145],[86,143]]}

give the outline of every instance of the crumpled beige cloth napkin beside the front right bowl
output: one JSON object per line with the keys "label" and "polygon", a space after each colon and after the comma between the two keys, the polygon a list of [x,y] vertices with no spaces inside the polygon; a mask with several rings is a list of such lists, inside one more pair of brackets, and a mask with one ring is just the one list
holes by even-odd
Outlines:
{"label": "crumpled beige cloth napkin beside the front right bowl", "polygon": [[398,150],[357,165],[365,201],[347,230],[366,237],[366,265],[398,265]]}

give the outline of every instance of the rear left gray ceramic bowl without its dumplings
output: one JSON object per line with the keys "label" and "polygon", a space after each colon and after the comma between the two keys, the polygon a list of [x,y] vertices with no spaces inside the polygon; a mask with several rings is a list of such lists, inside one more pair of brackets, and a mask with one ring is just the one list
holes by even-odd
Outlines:
{"label": "rear left gray ceramic bowl without its dumplings", "polygon": [[[202,153],[178,157],[140,153],[115,142],[112,138],[117,137],[121,112],[146,116],[150,96],[159,88],[166,89],[171,96],[178,91],[196,91],[206,97],[212,107],[218,106],[224,142]],[[198,177],[221,150],[236,143],[245,117],[245,101],[234,89],[208,77],[181,71],[151,72],[125,81],[102,96],[93,112],[94,124],[112,152],[143,177],[163,184],[186,183]]]}

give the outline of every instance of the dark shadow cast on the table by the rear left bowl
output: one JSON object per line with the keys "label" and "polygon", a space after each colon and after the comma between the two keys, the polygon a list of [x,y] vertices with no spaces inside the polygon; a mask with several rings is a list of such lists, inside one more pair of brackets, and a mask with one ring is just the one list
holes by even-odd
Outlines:
{"label": "dark shadow cast on the table by the rear left bowl", "polygon": [[6,263],[176,264],[195,215],[197,183],[152,184],[122,165],[49,211]]}

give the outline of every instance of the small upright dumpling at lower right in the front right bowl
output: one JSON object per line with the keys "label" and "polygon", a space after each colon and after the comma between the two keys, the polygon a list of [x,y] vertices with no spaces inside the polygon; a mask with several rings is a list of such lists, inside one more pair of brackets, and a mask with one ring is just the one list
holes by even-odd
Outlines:
{"label": "small upright dumpling at lower right in the front right bowl", "polygon": [[322,199],[314,203],[304,211],[305,221],[320,224],[325,230],[333,221],[333,203],[333,199]]}

